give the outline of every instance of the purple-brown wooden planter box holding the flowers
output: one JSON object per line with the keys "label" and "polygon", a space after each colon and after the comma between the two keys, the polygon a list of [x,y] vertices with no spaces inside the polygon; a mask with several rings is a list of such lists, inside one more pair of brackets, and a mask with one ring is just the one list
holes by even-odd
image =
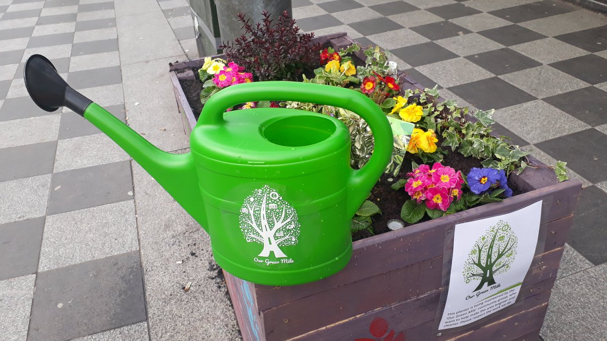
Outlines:
{"label": "purple-brown wooden planter box holding the flowers", "polygon": [[[316,38],[336,49],[351,44],[345,33]],[[363,58],[364,59],[364,58]],[[202,59],[171,65],[175,96],[186,133],[195,119],[179,78]],[[403,87],[421,89],[404,76]],[[541,164],[531,158],[534,163]],[[372,337],[371,322],[381,317],[388,331],[412,340],[537,340],[556,280],[563,246],[571,228],[582,184],[558,183],[551,169],[527,168],[510,176],[510,187],[523,192],[500,203],[458,212],[397,231],[354,241],[350,263],[337,274],[299,286],[264,286],[225,272],[229,294],[244,340],[354,340]],[[520,302],[485,317],[458,332],[437,333],[436,322],[443,278],[446,235],[456,223],[517,211],[543,200],[538,245],[520,289]],[[438,317],[439,318],[439,317]],[[438,335],[437,335],[438,334]]]}

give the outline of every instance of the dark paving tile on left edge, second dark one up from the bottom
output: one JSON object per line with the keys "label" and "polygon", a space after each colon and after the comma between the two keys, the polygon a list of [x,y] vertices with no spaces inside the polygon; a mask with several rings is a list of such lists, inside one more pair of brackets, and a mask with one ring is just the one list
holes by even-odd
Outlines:
{"label": "dark paving tile on left edge, second dark one up from the bottom", "polygon": [[56,149],[57,141],[0,149],[0,181],[52,173]]}

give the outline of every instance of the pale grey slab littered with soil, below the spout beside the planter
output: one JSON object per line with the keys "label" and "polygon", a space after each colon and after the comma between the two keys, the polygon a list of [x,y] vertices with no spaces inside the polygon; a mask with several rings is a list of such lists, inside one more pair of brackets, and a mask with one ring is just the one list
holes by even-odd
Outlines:
{"label": "pale grey slab littered with soil, below the spout beside the planter", "polygon": [[239,339],[225,283],[209,271],[208,235],[137,163],[133,174],[151,339]]}

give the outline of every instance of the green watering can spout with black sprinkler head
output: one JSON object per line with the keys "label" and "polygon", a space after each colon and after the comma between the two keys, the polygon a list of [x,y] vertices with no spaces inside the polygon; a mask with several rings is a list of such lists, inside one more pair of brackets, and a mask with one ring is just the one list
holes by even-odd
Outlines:
{"label": "green watering can spout with black sprinkler head", "polygon": [[206,215],[190,152],[171,154],[158,149],[103,107],[73,90],[41,55],[25,63],[25,87],[41,109],[53,112],[68,107],[90,121],[137,161],[203,228]]}

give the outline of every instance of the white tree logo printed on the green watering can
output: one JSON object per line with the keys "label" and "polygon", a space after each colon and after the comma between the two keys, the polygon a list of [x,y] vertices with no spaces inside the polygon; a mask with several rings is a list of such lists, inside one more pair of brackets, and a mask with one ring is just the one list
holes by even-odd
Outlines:
{"label": "white tree logo printed on the green watering can", "polygon": [[240,208],[240,231],[249,243],[263,245],[259,257],[287,257],[280,246],[299,241],[297,211],[270,186],[263,186],[246,197]]}

